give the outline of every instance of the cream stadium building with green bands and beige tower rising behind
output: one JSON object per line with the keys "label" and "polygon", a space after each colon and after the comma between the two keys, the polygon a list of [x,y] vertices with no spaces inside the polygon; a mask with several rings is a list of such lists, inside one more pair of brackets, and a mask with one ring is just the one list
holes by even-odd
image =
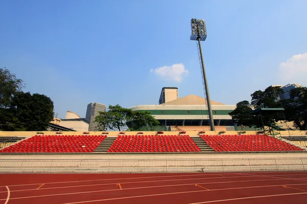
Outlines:
{"label": "cream stadium building with green bands and beige tower rising behind", "polygon": [[[216,130],[235,130],[235,123],[229,113],[235,105],[225,105],[211,100]],[[148,111],[155,117],[163,130],[171,131],[209,131],[209,115],[206,99],[196,95],[178,98],[178,88],[163,87],[159,105],[140,105],[131,107],[133,111]],[[156,129],[157,130],[157,129]]]}

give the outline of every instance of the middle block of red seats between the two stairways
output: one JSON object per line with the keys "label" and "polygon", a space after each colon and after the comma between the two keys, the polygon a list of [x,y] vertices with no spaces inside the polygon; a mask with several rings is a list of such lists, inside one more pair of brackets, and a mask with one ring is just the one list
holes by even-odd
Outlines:
{"label": "middle block of red seats between the two stairways", "polygon": [[201,149],[188,136],[118,136],[107,152],[198,152]]}

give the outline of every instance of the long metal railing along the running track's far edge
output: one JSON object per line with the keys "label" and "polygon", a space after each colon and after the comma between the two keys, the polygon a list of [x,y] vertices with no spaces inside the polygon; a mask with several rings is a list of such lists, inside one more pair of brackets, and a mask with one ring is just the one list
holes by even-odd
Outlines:
{"label": "long metal railing along the running track's far edge", "polygon": [[0,160],[0,173],[227,172],[282,170],[307,170],[307,158]]}

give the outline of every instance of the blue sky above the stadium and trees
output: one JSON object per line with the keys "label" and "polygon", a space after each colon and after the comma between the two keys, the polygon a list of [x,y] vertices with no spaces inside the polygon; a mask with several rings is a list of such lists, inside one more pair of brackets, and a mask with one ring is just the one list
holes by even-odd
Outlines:
{"label": "blue sky above the stadium and trees", "polygon": [[[306,1],[1,1],[0,67],[49,96],[60,118],[98,102],[158,104],[162,87],[234,105],[272,84],[307,86]],[[164,67],[164,68],[161,68]],[[151,71],[150,71],[151,70]],[[166,75],[163,75],[164,73]]]}

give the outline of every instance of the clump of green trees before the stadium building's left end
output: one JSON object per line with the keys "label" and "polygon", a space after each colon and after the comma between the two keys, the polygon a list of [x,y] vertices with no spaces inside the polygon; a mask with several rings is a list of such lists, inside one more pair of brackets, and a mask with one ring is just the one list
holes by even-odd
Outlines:
{"label": "clump of green trees before the stadium building's left end", "polygon": [[150,115],[150,112],[132,111],[131,109],[123,108],[119,105],[109,105],[105,112],[99,112],[96,116],[97,130],[118,130],[121,131],[125,127],[129,131],[142,130],[144,126],[153,130],[153,127],[159,125],[159,121]]}

